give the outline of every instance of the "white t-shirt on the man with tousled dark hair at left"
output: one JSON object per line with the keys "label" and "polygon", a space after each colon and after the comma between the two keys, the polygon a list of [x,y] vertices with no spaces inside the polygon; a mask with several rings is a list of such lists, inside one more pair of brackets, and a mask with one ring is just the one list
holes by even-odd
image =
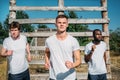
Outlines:
{"label": "white t-shirt on the man with tousled dark hair at left", "polygon": [[28,68],[26,60],[26,44],[27,39],[25,36],[20,35],[20,38],[13,40],[11,37],[5,38],[3,47],[7,50],[13,50],[13,54],[8,56],[9,73],[19,74]]}

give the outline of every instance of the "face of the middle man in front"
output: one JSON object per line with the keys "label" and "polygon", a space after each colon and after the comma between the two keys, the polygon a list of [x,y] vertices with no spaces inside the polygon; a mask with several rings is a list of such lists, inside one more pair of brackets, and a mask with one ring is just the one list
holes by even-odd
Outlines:
{"label": "face of the middle man in front", "polygon": [[56,21],[56,26],[59,32],[64,32],[68,27],[68,20],[66,18],[58,18]]}

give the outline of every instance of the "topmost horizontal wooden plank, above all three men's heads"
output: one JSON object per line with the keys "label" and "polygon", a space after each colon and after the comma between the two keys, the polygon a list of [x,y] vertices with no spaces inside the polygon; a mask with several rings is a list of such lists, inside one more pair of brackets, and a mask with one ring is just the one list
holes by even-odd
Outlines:
{"label": "topmost horizontal wooden plank, above all three men's heads", "polygon": [[106,7],[57,7],[57,6],[10,6],[9,10],[39,10],[39,11],[107,11]]}

